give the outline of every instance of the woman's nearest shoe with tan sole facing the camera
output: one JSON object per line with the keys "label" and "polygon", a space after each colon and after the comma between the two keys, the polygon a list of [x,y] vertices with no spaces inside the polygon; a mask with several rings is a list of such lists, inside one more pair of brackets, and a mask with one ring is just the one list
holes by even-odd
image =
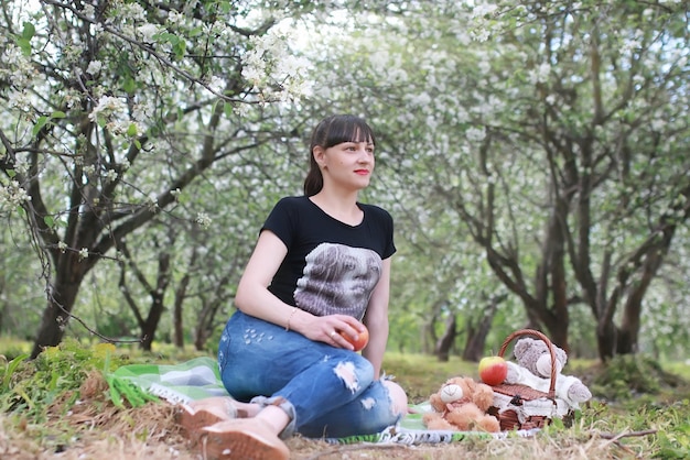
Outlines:
{"label": "woman's nearest shoe with tan sole facing the camera", "polygon": [[259,418],[219,421],[200,431],[204,459],[288,460],[290,450]]}

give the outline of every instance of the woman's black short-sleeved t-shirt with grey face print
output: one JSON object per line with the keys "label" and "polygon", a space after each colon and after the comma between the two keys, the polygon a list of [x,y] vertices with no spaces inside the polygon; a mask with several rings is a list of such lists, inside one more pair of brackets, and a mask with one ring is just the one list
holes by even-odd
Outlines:
{"label": "woman's black short-sleeved t-shirt with grey face print", "polygon": [[381,273],[396,252],[390,215],[358,202],[364,219],[349,226],[325,213],[308,197],[282,198],[261,230],[270,230],[288,254],[269,291],[282,302],[317,316],[362,319]]}

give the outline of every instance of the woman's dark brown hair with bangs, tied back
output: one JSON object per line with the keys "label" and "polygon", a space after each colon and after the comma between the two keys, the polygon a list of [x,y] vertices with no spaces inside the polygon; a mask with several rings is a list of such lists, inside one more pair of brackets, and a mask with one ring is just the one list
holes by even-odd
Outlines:
{"label": "woman's dark brown hair with bangs, tied back", "polygon": [[323,188],[323,176],[314,158],[316,145],[326,150],[343,142],[371,142],[376,145],[374,131],[364,119],[351,114],[331,116],[314,128],[309,145],[309,173],[304,179],[304,195],[316,195]]}

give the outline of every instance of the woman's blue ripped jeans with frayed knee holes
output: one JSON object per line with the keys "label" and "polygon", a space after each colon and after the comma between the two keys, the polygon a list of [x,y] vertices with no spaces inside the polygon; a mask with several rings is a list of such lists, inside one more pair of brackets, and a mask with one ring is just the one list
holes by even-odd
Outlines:
{"label": "woman's blue ripped jeans with frayed knee holes", "polygon": [[[360,354],[236,311],[218,348],[223,384],[241,402],[280,397],[293,417],[281,434],[339,438],[395,425],[388,390]],[[283,403],[284,404],[284,403]]]}

